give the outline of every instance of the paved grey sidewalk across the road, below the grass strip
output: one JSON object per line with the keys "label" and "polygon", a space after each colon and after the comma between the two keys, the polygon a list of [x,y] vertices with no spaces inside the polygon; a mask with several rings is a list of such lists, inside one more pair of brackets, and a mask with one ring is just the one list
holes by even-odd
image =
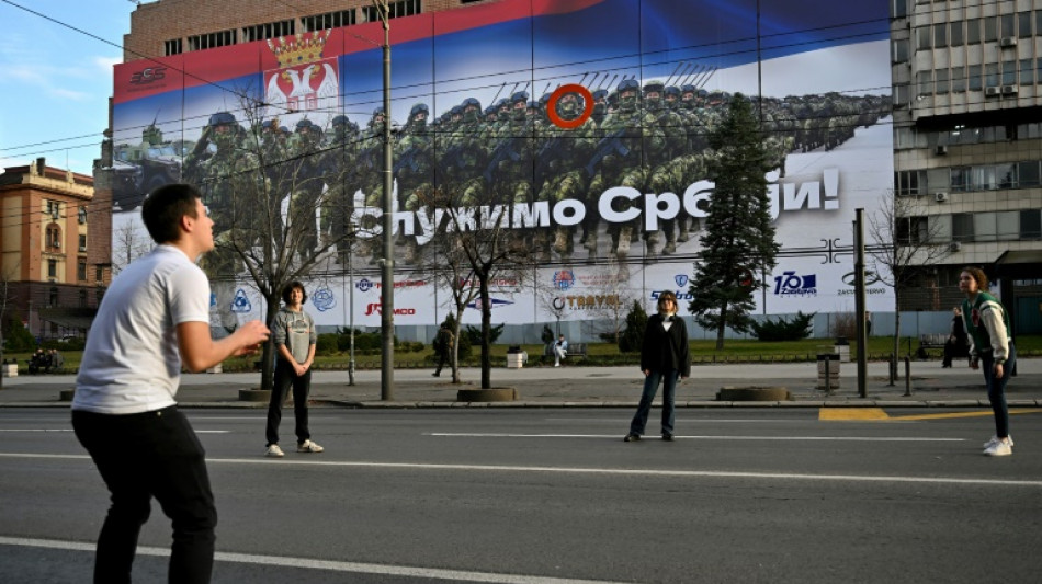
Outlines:
{"label": "paved grey sidewalk across the road, below the grass strip", "polygon": [[[902,371],[904,364],[901,365]],[[1010,408],[1042,408],[1042,359],[1021,359],[1018,376],[1007,387]],[[641,398],[644,376],[627,367],[494,367],[491,385],[513,388],[518,399],[509,402],[467,403],[456,401],[460,389],[478,389],[480,370],[461,370],[462,383],[453,385],[451,371],[439,378],[431,369],[396,369],[393,400],[381,400],[380,370],[355,371],[355,385],[348,385],[347,371],[315,371],[312,402],[315,406],[342,408],[635,408]],[[815,389],[817,364],[726,364],[698,365],[691,378],[677,388],[681,408],[748,406],[958,406],[986,408],[987,396],[979,370],[966,367],[942,369],[940,362],[911,364],[911,396],[905,396],[905,381],[887,385],[886,365],[870,363],[867,398],[858,397],[857,364],[843,363],[840,387],[831,397]],[[75,376],[19,376],[3,379],[0,408],[68,408],[59,393],[72,389]],[[181,378],[178,401],[184,408],[263,409],[267,401],[242,401],[239,390],[256,389],[260,374],[185,374]],[[717,401],[724,387],[785,388],[790,401]]]}

